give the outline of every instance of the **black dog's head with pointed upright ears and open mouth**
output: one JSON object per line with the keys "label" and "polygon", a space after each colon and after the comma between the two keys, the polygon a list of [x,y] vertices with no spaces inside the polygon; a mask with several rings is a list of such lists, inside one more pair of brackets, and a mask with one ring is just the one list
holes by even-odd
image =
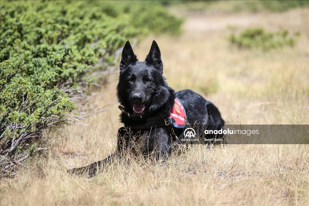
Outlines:
{"label": "black dog's head with pointed upright ears and open mouth", "polygon": [[161,52],[155,41],[143,62],[138,61],[127,41],[120,62],[119,102],[135,115],[158,110],[170,97],[170,88],[162,74]]}

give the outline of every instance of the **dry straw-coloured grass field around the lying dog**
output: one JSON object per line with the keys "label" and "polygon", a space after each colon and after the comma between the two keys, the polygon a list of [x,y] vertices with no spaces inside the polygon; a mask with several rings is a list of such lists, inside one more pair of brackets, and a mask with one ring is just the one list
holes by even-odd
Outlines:
{"label": "dry straw-coloured grass field around the lying dog", "polygon": [[[169,86],[202,94],[226,124],[309,124],[308,9],[178,15],[187,18],[180,36],[149,36],[133,48],[143,61],[156,40]],[[294,47],[239,49],[229,25],[300,36]],[[51,131],[61,137],[45,155],[1,179],[1,205],[309,205],[308,145],[194,145],[165,164],[122,160],[92,179],[67,175],[115,150],[118,76],[106,81],[78,112],[110,110]]]}

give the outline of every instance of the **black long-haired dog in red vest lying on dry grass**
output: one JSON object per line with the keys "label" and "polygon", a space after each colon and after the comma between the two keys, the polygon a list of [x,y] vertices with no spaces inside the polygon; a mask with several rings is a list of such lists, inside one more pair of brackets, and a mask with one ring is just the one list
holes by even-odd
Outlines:
{"label": "black long-haired dog in red vest lying on dry grass", "polygon": [[[121,157],[125,151],[141,152],[144,157],[152,154],[154,160],[167,159],[173,145],[184,139],[185,126],[197,125],[195,131],[200,136],[206,127],[209,130],[223,128],[224,121],[213,103],[191,90],[175,93],[167,86],[162,74],[161,53],[155,41],[143,62],[138,61],[127,41],[122,51],[117,86],[117,97],[122,105],[119,106],[122,111],[120,120],[124,127],[118,130],[116,152],[89,166],[68,170],[69,173],[88,171],[89,176],[93,176],[97,168],[110,163],[115,156]],[[176,125],[178,115],[171,112],[174,107],[178,114],[184,110],[186,124],[184,118],[179,116],[183,123]],[[221,134],[216,138],[223,136]]]}

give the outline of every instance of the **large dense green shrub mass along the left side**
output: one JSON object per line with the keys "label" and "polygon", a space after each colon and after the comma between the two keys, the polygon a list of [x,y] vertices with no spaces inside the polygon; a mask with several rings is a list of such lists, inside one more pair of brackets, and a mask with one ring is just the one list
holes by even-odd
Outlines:
{"label": "large dense green shrub mass along the left side", "polygon": [[1,174],[15,153],[34,152],[44,128],[66,120],[70,96],[115,64],[127,40],[178,34],[182,23],[157,1],[3,1],[0,10]]}

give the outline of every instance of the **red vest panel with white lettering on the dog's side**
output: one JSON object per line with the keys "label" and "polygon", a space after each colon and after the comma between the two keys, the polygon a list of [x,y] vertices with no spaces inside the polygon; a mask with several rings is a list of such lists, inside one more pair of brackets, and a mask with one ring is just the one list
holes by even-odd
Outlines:
{"label": "red vest panel with white lettering on the dog's side", "polygon": [[186,111],[178,99],[175,99],[174,106],[169,111],[169,117],[173,117],[176,121],[175,123],[171,124],[171,126],[176,128],[185,127]]}

